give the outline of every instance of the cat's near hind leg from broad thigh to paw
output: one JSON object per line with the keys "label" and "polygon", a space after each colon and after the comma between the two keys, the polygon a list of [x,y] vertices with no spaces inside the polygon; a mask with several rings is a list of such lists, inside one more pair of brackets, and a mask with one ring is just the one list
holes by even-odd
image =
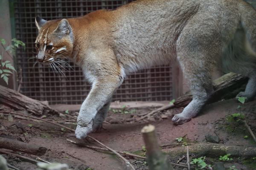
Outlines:
{"label": "cat's near hind leg from broad thigh to paw", "polygon": [[216,28],[205,27],[207,23],[200,25],[198,22],[195,20],[187,24],[177,40],[177,59],[190,86],[193,99],[182,113],[173,117],[172,121],[176,125],[189,122],[197,116],[214,94],[212,72],[217,59],[221,56],[221,38],[216,38],[219,36],[215,34],[218,33]]}

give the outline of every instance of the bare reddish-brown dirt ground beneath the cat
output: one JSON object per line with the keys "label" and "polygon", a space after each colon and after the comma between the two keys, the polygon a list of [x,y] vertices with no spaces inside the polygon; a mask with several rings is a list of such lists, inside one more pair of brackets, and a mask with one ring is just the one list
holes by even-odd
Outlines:
{"label": "bare reddish-brown dirt ground beneath the cat", "polygon": [[[183,137],[189,142],[206,142],[206,135],[214,135],[220,137],[221,144],[239,145],[255,147],[252,138],[244,126],[236,122],[232,117],[234,113],[243,112],[247,118],[247,122],[252,128],[253,132],[256,130],[256,100],[242,104],[241,111],[238,109],[238,102],[234,99],[215,102],[206,105],[201,111],[201,114],[183,125],[174,125],[172,117],[176,113],[180,113],[183,108],[173,108],[168,111],[163,111],[155,116],[151,116],[139,123],[134,122],[138,114],[147,113],[154,108],[129,108],[111,109],[105,119],[103,128],[99,133],[91,133],[90,136],[96,138],[103,144],[111,147],[114,150],[126,151],[132,153],[133,151],[141,150],[143,152],[143,137],[141,129],[148,124],[154,125],[157,131],[158,143],[161,145],[171,144],[177,142],[177,137]],[[68,108],[67,108],[68,109]],[[135,109],[135,110],[134,110]],[[0,111],[9,110],[9,108],[0,107]],[[120,113],[121,112],[121,113]],[[47,115],[44,119],[54,119],[61,121],[69,119],[67,123],[62,123],[67,127],[75,128],[76,111],[68,111],[68,114],[62,112],[66,116],[52,116]],[[92,150],[86,147],[79,147],[67,141],[67,139],[79,142],[73,132],[61,129],[56,125],[50,123],[34,121],[32,119],[20,119],[13,116],[13,121],[8,121],[8,114],[0,113],[0,137],[17,139],[19,141],[27,142],[29,144],[38,144],[46,147],[47,153],[39,156],[49,162],[61,162],[69,165],[71,170],[130,170],[124,161],[117,158],[117,156]],[[134,118],[131,120],[131,118]],[[127,121],[130,119],[130,121]],[[22,128],[15,127],[15,123],[20,123]],[[244,138],[244,136],[248,136]],[[87,145],[102,147],[92,140],[83,140]],[[166,147],[164,147],[166,148]],[[5,149],[1,149],[5,150]],[[8,150],[9,152],[12,152]],[[14,152],[36,159],[38,156]],[[142,153],[143,154],[143,153]],[[193,155],[191,155],[193,156]],[[19,168],[20,170],[35,170],[36,164],[19,159],[15,156],[4,155],[8,163]],[[177,159],[169,158],[172,162],[177,162]],[[195,157],[195,156],[194,156]],[[134,159],[130,156],[125,156],[137,170],[148,170],[146,160]],[[210,159],[210,158],[208,158]],[[218,159],[211,159],[217,162]],[[237,170],[254,170],[256,167],[252,160],[243,161],[240,159],[233,159],[233,161],[225,161],[226,169],[236,166]],[[186,158],[183,159],[186,162]],[[207,162],[207,164],[211,164]],[[183,170],[183,167],[175,167]]]}

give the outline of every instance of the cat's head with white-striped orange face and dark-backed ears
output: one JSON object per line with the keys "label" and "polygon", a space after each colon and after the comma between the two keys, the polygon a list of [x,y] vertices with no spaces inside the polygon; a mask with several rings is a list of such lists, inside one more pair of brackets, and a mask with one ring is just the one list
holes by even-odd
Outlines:
{"label": "cat's head with white-striped orange face and dark-backed ears", "polygon": [[73,31],[66,19],[46,21],[35,18],[38,37],[35,41],[36,59],[50,65],[59,57],[70,57],[73,51]]}

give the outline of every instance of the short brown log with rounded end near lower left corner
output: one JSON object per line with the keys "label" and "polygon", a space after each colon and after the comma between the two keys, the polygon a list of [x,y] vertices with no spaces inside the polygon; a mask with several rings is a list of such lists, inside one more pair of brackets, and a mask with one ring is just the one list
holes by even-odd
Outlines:
{"label": "short brown log with rounded end near lower left corner", "polygon": [[41,147],[37,144],[28,144],[25,142],[6,139],[2,137],[0,137],[0,148],[29,153],[38,156],[44,155],[47,151],[46,147]]}

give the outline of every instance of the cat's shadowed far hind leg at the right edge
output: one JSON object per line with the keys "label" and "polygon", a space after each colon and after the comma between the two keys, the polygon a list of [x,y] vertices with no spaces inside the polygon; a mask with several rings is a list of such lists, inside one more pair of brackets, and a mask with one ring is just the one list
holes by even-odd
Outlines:
{"label": "cat's shadowed far hind leg at the right edge", "polygon": [[[221,57],[221,68],[249,77],[245,91],[237,97],[246,97],[245,102],[253,100],[256,96],[256,53],[252,50],[243,28],[236,30],[230,44]],[[238,100],[238,99],[237,99]]]}

